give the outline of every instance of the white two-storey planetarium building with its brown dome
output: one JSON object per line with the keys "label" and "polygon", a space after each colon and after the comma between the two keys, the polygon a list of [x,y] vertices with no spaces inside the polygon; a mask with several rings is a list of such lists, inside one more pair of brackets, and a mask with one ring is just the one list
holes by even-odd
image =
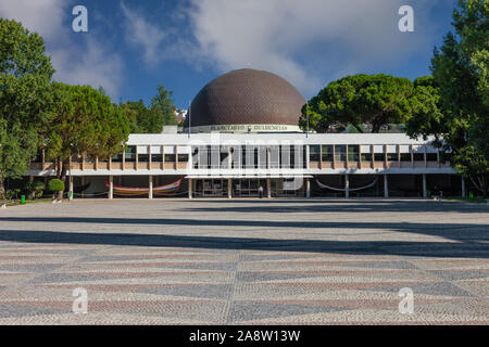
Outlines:
{"label": "white two-storey planetarium building with its brown dome", "polygon": [[[180,133],[130,134],[112,158],[72,158],[79,197],[350,197],[465,195],[429,139],[403,133],[304,133],[300,92],[268,72],[224,74],[193,99]],[[54,175],[32,163],[30,179]]]}

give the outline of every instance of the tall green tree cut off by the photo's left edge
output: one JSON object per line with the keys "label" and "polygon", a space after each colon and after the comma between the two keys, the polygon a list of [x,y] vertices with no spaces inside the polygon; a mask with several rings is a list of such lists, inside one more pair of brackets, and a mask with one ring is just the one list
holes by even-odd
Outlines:
{"label": "tall green tree cut off by the photo's left edge", "polygon": [[3,180],[25,175],[37,152],[53,73],[42,38],[0,18],[0,200]]}

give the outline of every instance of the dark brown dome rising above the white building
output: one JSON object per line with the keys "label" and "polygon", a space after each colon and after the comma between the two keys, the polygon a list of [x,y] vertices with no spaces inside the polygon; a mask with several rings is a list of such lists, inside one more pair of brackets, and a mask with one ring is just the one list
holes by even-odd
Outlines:
{"label": "dark brown dome rising above the white building", "polygon": [[215,78],[197,94],[190,108],[191,127],[298,126],[304,104],[304,98],[284,78],[263,70],[237,69]]}

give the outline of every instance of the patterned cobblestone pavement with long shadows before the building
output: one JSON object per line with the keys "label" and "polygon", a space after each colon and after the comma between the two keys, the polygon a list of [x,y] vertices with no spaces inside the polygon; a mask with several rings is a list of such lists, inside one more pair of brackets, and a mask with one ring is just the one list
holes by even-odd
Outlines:
{"label": "patterned cobblestone pavement with long shadows before the building", "polygon": [[[72,312],[73,291],[88,313]],[[414,313],[399,291],[412,288]],[[487,324],[489,206],[120,200],[0,209],[0,324]]]}

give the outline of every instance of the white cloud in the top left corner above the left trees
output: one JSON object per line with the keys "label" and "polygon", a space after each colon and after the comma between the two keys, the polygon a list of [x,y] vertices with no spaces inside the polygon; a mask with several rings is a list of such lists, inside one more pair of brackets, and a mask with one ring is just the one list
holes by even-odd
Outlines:
{"label": "white cloud in the top left corner above the left trees", "polygon": [[[73,4],[74,5],[74,4]],[[72,85],[103,87],[117,98],[123,81],[123,61],[109,46],[90,34],[74,41],[71,22],[72,8],[65,0],[1,0],[0,16],[21,22],[45,39],[47,53],[57,70],[53,79]],[[90,12],[89,12],[90,15]],[[90,21],[89,21],[90,23]]]}

